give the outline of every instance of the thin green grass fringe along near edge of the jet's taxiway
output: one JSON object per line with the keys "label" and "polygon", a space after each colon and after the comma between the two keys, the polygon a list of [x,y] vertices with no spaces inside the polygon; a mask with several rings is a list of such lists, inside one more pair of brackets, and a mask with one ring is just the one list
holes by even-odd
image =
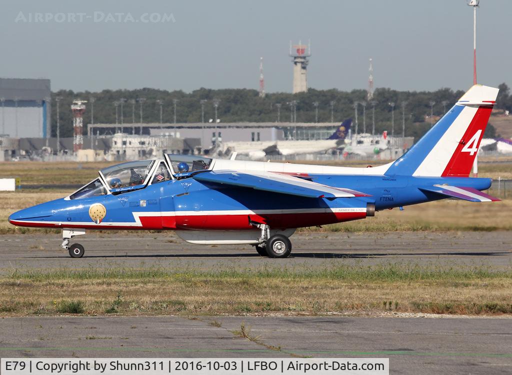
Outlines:
{"label": "thin green grass fringe along near edge of the jet's taxiway", "polygon": [[[413,263],[388,263],[377,266],[349,266],[340,265],[329,269],[307,269],[297,268],[265,268],[265,269],[225,269],[221,271],[191,271],[191,270],[169,270],[165,268],[110,268],[110,269],[83,269],[68,270],[65,268],[45,271],[11,271],[3,280],[31,280],[31,281],[52,281],[52,280],[133,280],[146,279],[151,282],[153,279],[165,279],[169,282],[201,283],[206,280],[327,280],[336,279],[343,281],[420,281],[420,280],[475,280],[482,278],[512,278],[512,268],[504,270],[492,270],[490,267],[455,267],[455,266],[433,266],[423,267]],[[2,280],[2,279],[0,279]],[[0,281],[2,285],[2,281]],[[118,300],[120,295],[118,294]]]}

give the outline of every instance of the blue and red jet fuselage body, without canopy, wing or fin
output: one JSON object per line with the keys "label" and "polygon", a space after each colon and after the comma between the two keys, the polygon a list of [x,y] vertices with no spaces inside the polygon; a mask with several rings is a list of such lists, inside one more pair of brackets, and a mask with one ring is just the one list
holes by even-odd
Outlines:
{"label": "blue and red jet fuselage body, without canopy, wing or fin", "polygon": [[[422,187],[447,184],[485,190],[491,184],[490,179],[400,175],[309,174],[309,178],[318,184],[364,191],[370,196],[308,198],[214,186],[187,178],[117,195],[62,198],[13,213],[9,221],[26,227],[156,230],[243,230],[251,229],[252,221],[284,229],[365,218],[373,204],[375,210],[383,210],[443,198]],[[95,204],[105,210],[96,222],[91,213]]]}

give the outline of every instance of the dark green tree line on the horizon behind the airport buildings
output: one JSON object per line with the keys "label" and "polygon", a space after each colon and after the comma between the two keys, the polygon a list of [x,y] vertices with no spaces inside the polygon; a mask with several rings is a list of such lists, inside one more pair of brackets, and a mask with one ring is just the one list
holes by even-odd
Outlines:
{"label": "dark green tree line on the horizon behind the airport buildings", "polygon": [[[191,93],[183,91],[166,91],[157,89],[138,90],[103,90],[101,92],[73,92],[60,90],[52,93],[52,136],[57,131],[57,101],[59,103],[60,137],[73,136],[73,120],[71,104],[73,100],[82,99],[86,103],[84,114],[84,133],[87,124],[116,123],[121,121],[126,126],[132,122],[140,123],[140,106],[142,105],[142,122],[160,122],[160,104],[163,123],[174,122],[174,106],[176,101],[176,122],[191,123],[217,117],[222,122],[290,122],[295,111],[296,122],[334,122],[340,123],[347,118],[355,117],[354,104],[357,103],[359,131],[362,131],[366,118],[367,132],[371,131],[373,113],[375,114],[375,132],[388,130],[391,133],[394,115],[395,135],[401,135],[402,120],[406,123],[406,136],[419,139],[435,121],[448,111],[464,94],[463,91],[439,89],[426,91],[397,91],[387,88],[376,89],[373,98],[367,100],[365,90],[350,92],[309,89],[306,93],[268,93],[259,97],[257,90],[221,89],[212,90],[202,87]],[[93,98],[94,103],[91,103]],[[143,99],[142,103],[141,100]],[[124,99],[124,100],[121,100]],[[121,101],[123,102],[121,105]],[[292,103],[295,103],[293,106]],[[394,107],[391,105],[394,103]],[[402,103],[404,106],[402,107]],[[92,112],[94,105],[94,114]],[[122,111],[121,111],[122,107]],[[505,83],[500,85],[497,107],[512,110],[512,96]],[[402,112],[403,108],[403,112]],[[431,118],[431,111],[433,118]],[[364,112],[366,116],[364,116]],[[496,137],[494,127],[489,124],[486,137]]]}

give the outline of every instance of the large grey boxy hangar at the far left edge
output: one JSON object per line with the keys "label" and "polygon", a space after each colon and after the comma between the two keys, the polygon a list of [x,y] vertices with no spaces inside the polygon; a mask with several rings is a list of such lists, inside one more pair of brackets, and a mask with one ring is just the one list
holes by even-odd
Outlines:
{"label": "large grey boxy hangar at the far left edge", "polygon": [[0,135],[50,137],[50,98],[49,79],[0,78]]}

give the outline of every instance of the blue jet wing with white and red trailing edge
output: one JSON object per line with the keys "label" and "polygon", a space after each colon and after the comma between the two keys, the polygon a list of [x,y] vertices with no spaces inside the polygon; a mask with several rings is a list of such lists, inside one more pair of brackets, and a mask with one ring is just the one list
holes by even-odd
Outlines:
{"label": "blue jet wing with white and red trailing edge", "polygon": [[239,186],[309,198],[325,197],[334,199],[370,196],[351,189],[331,187],[298,177],[263,171],[254,173],[237,172],[234,170],[209,171],[194,175],[194,179],[201,182]]}

